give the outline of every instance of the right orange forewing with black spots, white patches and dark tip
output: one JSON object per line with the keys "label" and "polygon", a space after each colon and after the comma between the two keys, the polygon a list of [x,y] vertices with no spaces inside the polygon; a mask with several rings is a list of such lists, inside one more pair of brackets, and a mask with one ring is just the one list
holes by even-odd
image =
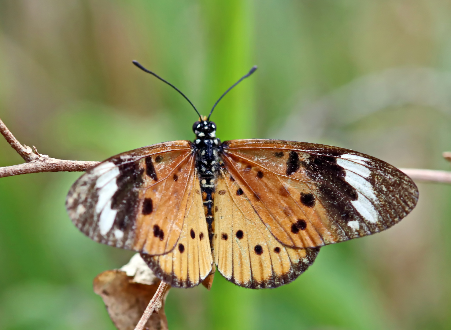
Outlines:
{"label": "right orange forewing with black spots, white patches and dark tip", "polygon": [[374,234],[416,205],[418,190],[393,166],[312,143],[223,143],[225,168],[281,243],[306,248]]}

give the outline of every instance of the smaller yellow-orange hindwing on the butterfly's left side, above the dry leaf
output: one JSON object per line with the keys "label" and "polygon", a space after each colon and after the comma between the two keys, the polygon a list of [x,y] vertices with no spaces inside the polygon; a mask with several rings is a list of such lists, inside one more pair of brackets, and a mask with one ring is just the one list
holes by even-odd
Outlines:
{"label": "smaller yellow-orange hindwing on the butterfly's left side, above the dry leaf", "polygon": [[210,273],[213,263],[197,173],[193,176],[184,225],[175,248],[160,256],[141,254],[159,278],[179,288],[198,285]]}

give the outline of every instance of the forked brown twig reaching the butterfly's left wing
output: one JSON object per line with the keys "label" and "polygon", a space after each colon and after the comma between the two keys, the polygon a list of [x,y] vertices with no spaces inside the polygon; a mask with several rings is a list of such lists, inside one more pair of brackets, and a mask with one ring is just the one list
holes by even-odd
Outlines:
{"label": "forked brown twig reaching the butterfly's left wing", "polygon": [[0,119],[0,133],[26,163],[0,167],[0,178],[38,172],[81,172],[97,165],[98,161],[63,160],[40,154],[36,147],[22,145]]}

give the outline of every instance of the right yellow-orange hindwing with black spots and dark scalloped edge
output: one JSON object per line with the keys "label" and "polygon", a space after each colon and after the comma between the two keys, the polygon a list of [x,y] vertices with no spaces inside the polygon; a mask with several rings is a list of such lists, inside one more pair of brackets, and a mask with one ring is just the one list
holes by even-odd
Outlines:
{"label": "right yellow-orange hindwing with black spots and dark scalloped edge", "polygon": [[310,266],[317,248],[279,243],[262,223],[249,196],[221,169],[215,193],[214,255],[227,280],[247,288],[276,288]]}

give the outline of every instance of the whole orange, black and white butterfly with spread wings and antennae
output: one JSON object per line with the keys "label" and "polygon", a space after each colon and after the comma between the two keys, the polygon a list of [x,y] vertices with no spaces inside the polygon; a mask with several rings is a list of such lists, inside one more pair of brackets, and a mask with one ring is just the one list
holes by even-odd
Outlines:
{"label": "whole orange, black and white butterfly with spread wings and antennae", "polygon": [[161,280],[189,288],[217,270],[246,288],[275,288],[307,270],[319,248],[395,225],[418,189],[400,170],[356,151],[306,142],[196,138],[101,162],[70,188],[66,208],[93,240],[141,253]]}

